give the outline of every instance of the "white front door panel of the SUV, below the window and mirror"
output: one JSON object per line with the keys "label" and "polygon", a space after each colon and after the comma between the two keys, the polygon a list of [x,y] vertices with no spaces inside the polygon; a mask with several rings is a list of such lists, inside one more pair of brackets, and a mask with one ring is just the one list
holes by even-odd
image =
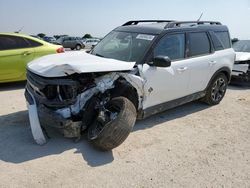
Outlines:
{"label": "white front door panel of the SUV, below the window and mirror", "polygon": [[145,80],[143,109],[188,95],[192,60],[173,62],[171,67],[161,68],[144,64]]}

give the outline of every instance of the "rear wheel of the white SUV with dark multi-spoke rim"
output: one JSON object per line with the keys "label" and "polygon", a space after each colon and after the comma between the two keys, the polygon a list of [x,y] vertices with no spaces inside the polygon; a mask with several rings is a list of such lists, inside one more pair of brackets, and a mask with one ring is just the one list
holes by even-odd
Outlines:
{"label": "rear wheel of the white SUV with dark multi-spoke rim", "polygon": [[228,79],[225,74],[217,75],[209,85],[206,95],[202,101],[209,105],[217,105],[224,98],[228,86]]}

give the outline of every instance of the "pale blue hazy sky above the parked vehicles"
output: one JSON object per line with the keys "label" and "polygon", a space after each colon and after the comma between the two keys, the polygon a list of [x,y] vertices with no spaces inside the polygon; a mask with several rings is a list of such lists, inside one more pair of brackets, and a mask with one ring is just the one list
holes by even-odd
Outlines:
{"label": "pale blue hazy sky above the parked vehicles", "polygon": [[133,19],[216,20],[250,39],[250,0],[0,0],[0,32],[102,37]]}

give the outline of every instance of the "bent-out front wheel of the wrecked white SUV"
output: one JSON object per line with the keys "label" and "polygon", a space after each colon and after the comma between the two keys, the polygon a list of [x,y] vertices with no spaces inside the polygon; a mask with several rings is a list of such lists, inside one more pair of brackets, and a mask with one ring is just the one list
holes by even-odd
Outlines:
{"label": "bent-out front wheel of the wrecked white SUV", "polygon": [[136,121],[136,109],[125,97],[111,99],[89,127],[88,138],[101,150],[111,150],[124,142]]}

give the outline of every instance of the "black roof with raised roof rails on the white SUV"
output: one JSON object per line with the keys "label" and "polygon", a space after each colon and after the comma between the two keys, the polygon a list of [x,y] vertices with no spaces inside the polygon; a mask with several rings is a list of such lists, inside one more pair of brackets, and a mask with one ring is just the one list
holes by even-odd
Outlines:
{"label": "black roof with raised roof rails on the white SUV", "polygon": [[[142,24],[138,24],[142,22]],[[148,23],[152,22],[152,23]],[[135,23],[135,24],[133,24]],[[169,30],[209,30],[209,31],[228,31],[227,26],[222,25],[220,22],[213,21],[164,21],[164,20],[142,20],[142,21],[129,21],[115,31],[134,32],[159,35],[162,32]]]}

